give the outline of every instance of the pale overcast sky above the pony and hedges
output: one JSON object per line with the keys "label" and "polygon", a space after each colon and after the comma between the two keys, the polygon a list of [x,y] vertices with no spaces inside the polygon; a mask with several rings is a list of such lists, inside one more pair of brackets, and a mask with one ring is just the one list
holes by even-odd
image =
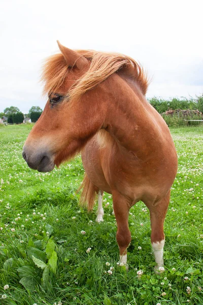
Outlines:
{"label": "pale overcast sky above the pony and hedges", "polygon": [[43,60],[72,49],[120,52],[138,60],[151,83],[147,98],[203,93],[202,1],[2,1],[0,112],[45,106]]}

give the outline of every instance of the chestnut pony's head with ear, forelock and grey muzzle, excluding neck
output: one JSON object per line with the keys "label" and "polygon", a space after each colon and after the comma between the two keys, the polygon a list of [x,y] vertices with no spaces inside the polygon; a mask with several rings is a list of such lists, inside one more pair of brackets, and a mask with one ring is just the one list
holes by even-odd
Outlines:
{"label": "chestnut pony's head with ear, forelock and grey muzzle, excluding neck", "polygon": [[55,164],[59,165],[77,153],[86,137],[82,126],[85,105],[80,101],[72,103],[69,92],[90,64],[78,52],[59,42],[58,46],[61,53],[47,60],[43,73],[48,101],[29,133],[22,153],[30,168],[42,172],[53,170]]}

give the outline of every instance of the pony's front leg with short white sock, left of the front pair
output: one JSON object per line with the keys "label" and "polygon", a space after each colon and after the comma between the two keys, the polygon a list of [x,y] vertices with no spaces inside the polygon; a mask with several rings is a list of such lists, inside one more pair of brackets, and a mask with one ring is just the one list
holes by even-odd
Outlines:
{"label": "pony's front leg with short white sock, left of the front pair", "polygon": [[127,247],[131,241],[131,234],[128,228],[128,215],[130,202],[128,199],[118,193],[117,191],[112,192],[114,213],[117,222],[117,233],[116,239],[120,251],[120,262],[127,263]]}

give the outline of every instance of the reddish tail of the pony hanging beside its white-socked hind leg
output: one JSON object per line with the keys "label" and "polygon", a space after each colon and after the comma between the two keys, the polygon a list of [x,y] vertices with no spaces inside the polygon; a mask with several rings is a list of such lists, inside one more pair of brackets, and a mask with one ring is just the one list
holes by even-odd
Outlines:
{"label": "reddish tail of the pony hanging beside its white-socked hind leg", "polygon": [[78,192],[82,190],[80,196],[80,204],[82,206],[86,206],[88,211],[93,209],[94,199],[96,196],[96,191],[98,191],[97,187],[92,183],[87,174],[85,174],[84,179],[82,181],[82,185],[80,186]]}

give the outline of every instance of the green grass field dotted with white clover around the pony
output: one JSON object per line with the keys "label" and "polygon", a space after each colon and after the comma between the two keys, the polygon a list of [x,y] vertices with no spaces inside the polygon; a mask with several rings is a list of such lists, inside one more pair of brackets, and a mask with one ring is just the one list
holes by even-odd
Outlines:
{"label": "green grass field dotted with white clover around the pony", "polygon": [[98,224],[96,205],[89,214],[78,205],[80,157],[50,173],[29,169],[21,152],[30,129],[0,129],[0,303],[203,304],[203,127],[171,129],[179,170],[164,224],[160,275],[153,271],[145,205],[130,210],[126,272],[117,265],[111,196],[104,196],[105,218]]}

